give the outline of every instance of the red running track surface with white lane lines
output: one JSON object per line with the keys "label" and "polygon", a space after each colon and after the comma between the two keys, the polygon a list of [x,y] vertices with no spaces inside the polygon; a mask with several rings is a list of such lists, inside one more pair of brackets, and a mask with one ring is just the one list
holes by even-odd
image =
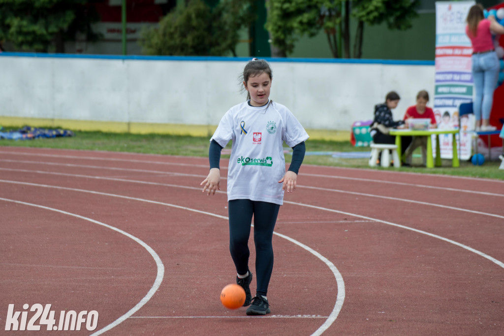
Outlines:
{"label": "red running track surface with white lane lines", "polygon": [[219,301],[235,276],[226,180],[201,192],[208,159],[0,157],[0,334],[22,334],[9,304],[27,324],[37,303],[55,328],[61,311],[99,313],[71,334],[504,334],[503,181],[303,165],[275,229],[272,313],[256,317]]}

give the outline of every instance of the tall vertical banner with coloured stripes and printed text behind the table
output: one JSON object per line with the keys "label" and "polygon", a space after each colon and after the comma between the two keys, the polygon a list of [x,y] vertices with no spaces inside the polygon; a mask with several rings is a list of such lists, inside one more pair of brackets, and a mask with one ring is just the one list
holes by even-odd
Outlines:
{"label": "tall vertical banner with coloured stripes and printed text behind the table", "polygon": [[[459,128],[459,105],[472,102],[472,47],[466,35],[466,17],[474,4],[474,1],[436,2],[434,115],[438,128]],[[464,128],[470,125],[463,123]],[[471,153],[470,136],[460,135],[457,135],[459,157],[467,159]],[[452,158],[452,135],[440,134],[439,141],[441,157]]]}

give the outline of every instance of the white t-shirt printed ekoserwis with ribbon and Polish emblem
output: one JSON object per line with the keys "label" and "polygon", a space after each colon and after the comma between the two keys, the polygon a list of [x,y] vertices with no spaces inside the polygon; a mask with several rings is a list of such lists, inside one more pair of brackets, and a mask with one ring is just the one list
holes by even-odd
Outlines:
{"label": "white t-shirt printed ekoserwis with ribbon and Polish emblem", "polygon": [[278,183],[285,175],[283,142],[294,147],[308,134],[283,105],[233,106],[210,139],[222,147],[233,140],[227,176],[227,199],[249,199],[283,204]]}

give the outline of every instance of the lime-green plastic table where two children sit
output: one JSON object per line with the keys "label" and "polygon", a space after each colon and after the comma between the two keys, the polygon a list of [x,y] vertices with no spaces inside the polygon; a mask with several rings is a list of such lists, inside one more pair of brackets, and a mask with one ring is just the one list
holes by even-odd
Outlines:
{"label": "lime-green plastic table where two children sit", "polygon": [[401,137],[402,136],[427,136],[427,168],[433,168],[434,167],[434,160],[432,158],[432,134],[435,134],[436,136],[436,161],[435,161],[435,166],[440,167],[441,166],[441,155],[440,155],[440,148],[439,148],[439,134],[452,134],[453,139],[452,139],[452,144],[453,144],[453,155],[452,155],[452,166],[458,167],[460,166],[459,162],[459,153],[457,151],[457,141],[455,139],[455,134],[459,133],[458,129],[442,129],[442,128],[435,128],[435,129],[427,129],[427,130],[409,130],[409,129],[391,129],[390,130],[390,135],[395,135],[396,136],[396,145],[397,145],[397,152],[401,153]]}

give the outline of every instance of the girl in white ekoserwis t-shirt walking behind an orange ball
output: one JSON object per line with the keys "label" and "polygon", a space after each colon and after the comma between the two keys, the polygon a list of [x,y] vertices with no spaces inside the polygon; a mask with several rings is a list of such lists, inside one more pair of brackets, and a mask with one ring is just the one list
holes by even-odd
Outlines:
{"label": "girl in white ekoserwis t-shirt walking behind an orange ball", "polygon": [[[308,134],[283,105],[269,99],[272,71],[266,60],[254,58],[243,69],[247,100],[233,106],[210,139],[210,173],[201,183],[203,192],[220,190],[220,152],[232,140],[227,177],[229,249],[236,268],[236,283],[245,290],[247,315],[270,313],[268,284],[273,271],[273,230],[284,191],[296,188]],[[285,172],[283,142],[293,148]],[[254,216],[257,294],[250,293],[248,238]]]}

